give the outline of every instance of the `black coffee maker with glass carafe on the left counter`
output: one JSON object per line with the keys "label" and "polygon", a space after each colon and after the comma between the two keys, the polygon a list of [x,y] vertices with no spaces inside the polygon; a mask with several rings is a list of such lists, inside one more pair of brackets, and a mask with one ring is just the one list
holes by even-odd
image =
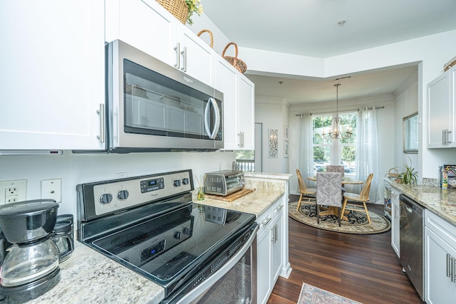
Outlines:
{"label": "black coffee maker with glass carafe on the left counter", "polygon": [[1,244],[7,246],[0,268],[1,296],[36,298],[60,280],[61,253],[55,242],[68,236],[53,233],[57,209],[52,199],[0,206]]}

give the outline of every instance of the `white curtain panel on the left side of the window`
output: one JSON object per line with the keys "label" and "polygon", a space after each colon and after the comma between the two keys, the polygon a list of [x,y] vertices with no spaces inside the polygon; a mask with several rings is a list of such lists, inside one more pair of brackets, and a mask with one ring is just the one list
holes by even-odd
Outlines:
{"label": "white curtain panel on the left side of the window", "polygon": [[312,125],[312,115],[301,115],[301,128],[300,128],[301,145],[299,151],[299,171],[301,172],[304,180],[307,177],[314,175],[314,126]]}

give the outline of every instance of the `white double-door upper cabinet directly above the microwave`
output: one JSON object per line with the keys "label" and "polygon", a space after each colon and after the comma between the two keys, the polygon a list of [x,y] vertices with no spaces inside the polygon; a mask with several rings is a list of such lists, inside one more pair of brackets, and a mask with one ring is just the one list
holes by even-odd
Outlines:
{"label": "white double-door upper cabinet directly above the microwave", "polygon": [[105,41],[115,39],[212,83],[214,50],[155,0],[106,1]]}

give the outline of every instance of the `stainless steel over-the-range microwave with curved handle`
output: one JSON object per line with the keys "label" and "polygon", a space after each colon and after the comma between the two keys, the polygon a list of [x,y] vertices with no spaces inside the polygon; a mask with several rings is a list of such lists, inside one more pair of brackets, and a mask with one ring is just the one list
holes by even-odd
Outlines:
{"label": "stainless steel over-the-range microwave with curved handle", "polygon": [[106,46],[108,152],[223,148],[223,94],[123,41]]}

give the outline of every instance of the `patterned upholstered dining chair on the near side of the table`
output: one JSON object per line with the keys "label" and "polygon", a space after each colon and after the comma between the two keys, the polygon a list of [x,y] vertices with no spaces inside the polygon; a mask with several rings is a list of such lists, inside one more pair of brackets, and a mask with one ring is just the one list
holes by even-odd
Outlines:
{"label": "patterned upholstered dining chair on the near side of the table", "polygon": [[317,172],[316,173],[316,221],[320,223],[320,211],[318,205],[337,207],[339,227],[341,226],[342,206],[342,173],[341,172]]}

